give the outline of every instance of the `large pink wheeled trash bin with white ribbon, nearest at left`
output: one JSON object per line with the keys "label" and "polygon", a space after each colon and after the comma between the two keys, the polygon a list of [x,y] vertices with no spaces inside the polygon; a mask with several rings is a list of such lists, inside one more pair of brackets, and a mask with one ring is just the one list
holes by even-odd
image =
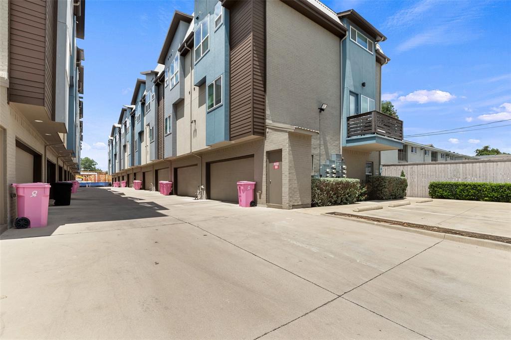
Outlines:
{"label": "large pink wheeled trash bin with white ribbon, nearest at left", "polygon": [[24,220],[21,220],[20,217],[29,219],[30,228],[47,226],[51,185],[47,183],[24,183],[13,184],[12,186],[16,188],[18,208],[18,218],[14,222],[15,226],[17,228],[24,227]]}

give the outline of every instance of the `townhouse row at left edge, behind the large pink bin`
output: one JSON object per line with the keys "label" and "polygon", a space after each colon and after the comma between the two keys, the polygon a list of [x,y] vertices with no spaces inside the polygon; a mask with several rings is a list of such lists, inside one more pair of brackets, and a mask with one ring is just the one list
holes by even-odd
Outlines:
{"label": "townhouse row at left edge, behind the large pink bin", "polygon": [[83,139],[84,0],[0,2],[0,225],[12,183],[74,179]]}

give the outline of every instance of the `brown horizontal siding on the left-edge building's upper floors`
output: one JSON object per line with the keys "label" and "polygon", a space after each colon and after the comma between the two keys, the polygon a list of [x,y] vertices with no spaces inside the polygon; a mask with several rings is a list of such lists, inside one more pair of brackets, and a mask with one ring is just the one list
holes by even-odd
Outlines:
{"label": "brown horizontal siding on the left-edge building's upper floors", "polygon": [[9,100],[54,118],[57,2],[9,2]]}

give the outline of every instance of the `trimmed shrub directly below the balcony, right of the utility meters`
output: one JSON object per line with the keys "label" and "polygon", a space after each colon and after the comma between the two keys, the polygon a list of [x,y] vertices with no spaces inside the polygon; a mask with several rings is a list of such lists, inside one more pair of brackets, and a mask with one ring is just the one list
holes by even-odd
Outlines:
{"label": "trimmed shrub directly below the balcony, right of the utility meters", "polygon": [[408,182],[405,177],[369,176],[367,196],[370,200],[396,200],[406,196]]}

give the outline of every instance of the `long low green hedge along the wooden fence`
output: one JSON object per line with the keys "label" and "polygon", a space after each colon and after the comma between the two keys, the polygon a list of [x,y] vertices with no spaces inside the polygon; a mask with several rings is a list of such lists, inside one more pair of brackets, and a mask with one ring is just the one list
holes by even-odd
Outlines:
{"label": "long low green hedge along the wooden fence", "polygon": [[511,183],[431,182],[431,198],[511,203]]}

